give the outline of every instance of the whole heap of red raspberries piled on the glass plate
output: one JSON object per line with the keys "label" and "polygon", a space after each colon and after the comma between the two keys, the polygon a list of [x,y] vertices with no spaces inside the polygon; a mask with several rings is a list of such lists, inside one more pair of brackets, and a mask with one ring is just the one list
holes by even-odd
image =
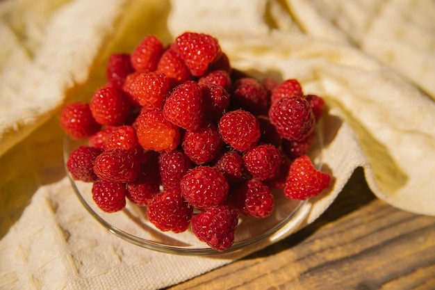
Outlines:
{"label": "whole heap of red raspberries piled on the glass plate", "polygon": [[272,214],[275,189],[304,200],[329,186],[306,155],[322,97],[304,95],[297,79],[231,67],[212,35],[186,32],[166,46],[147,35],[131,54],[108,58],[106,77],[90,102],[60,113],[65,132],[87,140],[67,170],[93,183],[102,211],[129,200],[161,231],[190,228],[221,252],[239,216]]}

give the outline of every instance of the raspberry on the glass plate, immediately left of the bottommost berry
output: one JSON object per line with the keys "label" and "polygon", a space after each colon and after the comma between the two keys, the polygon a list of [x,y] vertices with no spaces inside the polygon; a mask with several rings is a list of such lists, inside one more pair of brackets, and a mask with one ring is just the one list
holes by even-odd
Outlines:
{"label": "raspberry on the glass plate, immediately left of the bottommost berry", "polygon": [[167,188],[149,201],[149,221],[163,232],[185,232],[192,219],[193,207],[184,200],[179,188]]}

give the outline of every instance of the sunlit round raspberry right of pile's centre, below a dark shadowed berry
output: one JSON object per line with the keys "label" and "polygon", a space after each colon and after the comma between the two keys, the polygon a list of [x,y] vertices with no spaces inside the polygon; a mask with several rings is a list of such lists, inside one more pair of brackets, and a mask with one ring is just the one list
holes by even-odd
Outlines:
{"label": "sunlit round raspberry right of pile's centre, below a dark shadowed berry", "polygon": [[258,120],[248,111],[236,110],[225,113],[217,127],[224,142],[240,152],[254,147],[260,140]]}

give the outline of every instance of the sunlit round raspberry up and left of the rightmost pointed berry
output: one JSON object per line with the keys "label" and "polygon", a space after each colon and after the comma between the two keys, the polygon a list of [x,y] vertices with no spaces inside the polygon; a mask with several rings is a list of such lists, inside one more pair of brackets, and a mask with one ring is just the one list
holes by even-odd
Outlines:
{"label": "sunlit round raspberry up and left of the rightmost pointed berry", "polygon": [[252,177],[260,180],[272,179],[278,175],[281,152],[274,145],[258,145],[243,154],[243,162]]}

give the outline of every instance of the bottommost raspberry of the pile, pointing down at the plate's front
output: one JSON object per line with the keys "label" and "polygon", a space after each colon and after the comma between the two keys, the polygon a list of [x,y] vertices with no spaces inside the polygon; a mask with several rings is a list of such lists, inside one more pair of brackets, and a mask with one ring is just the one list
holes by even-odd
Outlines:
{"label": "bottommost raspberry of the pile, pointing down at the plate's front", "polygon": [[192,232],[199,241],[207,243],[213,250],[223,252],[234,243],[238,225],[238,214],[226,205],[221,205],[192,218]]}

